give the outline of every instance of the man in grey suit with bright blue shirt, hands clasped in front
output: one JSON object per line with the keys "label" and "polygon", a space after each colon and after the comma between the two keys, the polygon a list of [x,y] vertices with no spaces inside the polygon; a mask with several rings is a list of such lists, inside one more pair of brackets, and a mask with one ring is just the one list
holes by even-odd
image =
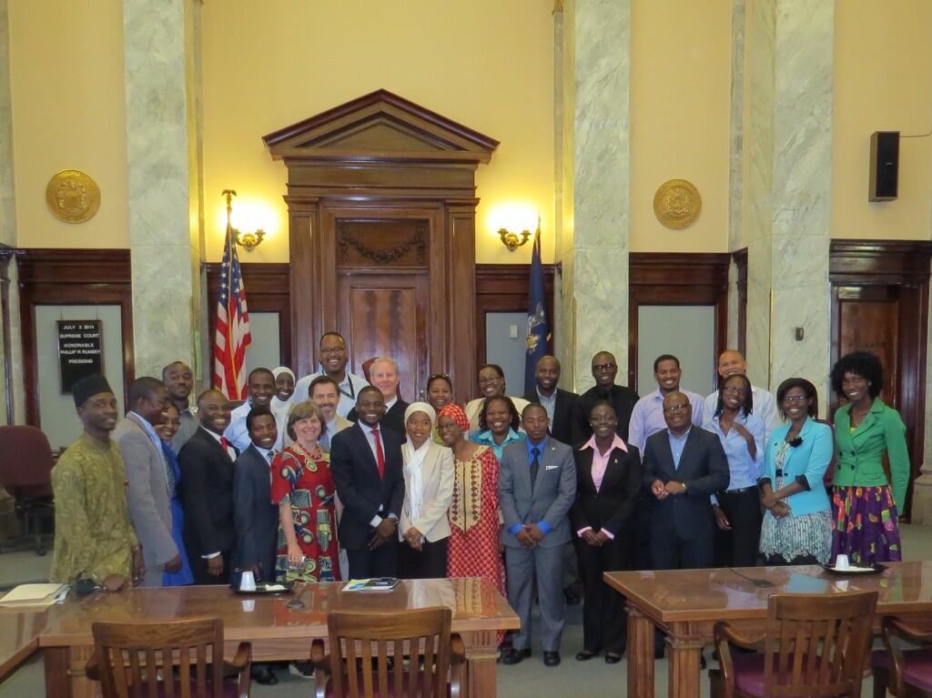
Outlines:
{"label": "man in grey suit with bright blue shirt, hands clasped in front", "polygon": [[502,664],[530,656],[530,610],[537,581],[543,622],[543,664],[560,664],[560,636],[566,618],[562,546],[569,541],[567,513],[576,498],[576,465],[570,447],[547,435],[550,420],[541,404],[528,404],[521,415],[528,440],[505,446],[501,453],[499,500],[505,525],[508,603],[521,619],[512,650]]}

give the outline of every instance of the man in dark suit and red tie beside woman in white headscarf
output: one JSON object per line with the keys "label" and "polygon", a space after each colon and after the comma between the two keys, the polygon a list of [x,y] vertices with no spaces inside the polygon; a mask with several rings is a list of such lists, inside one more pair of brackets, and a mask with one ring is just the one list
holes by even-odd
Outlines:
{"label": "man in dark suit and red tie beside woman in white headscarf", "polygon": [[352,579],[398,573],[398,516],[404,503],[402,437],[381,429],[385,401],[366,386],[356,400],[358,421],[330,442],[330,471],[343,503],[338,533]]}

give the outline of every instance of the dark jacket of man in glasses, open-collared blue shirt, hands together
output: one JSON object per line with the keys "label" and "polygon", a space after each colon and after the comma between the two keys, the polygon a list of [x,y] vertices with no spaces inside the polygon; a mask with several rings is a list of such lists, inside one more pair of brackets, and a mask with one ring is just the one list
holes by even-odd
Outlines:
{"label": "dark jacket of man in glasses, open-collared blue shirt, hands together", "polygon": [[[718,436],[692,427],[677,468],[667,430],[657,431],[644,446],[643,465],[644,486],[651,498],[651,537],[676,535],[681,541],[693,541],[715,534],[715,517],[708,498],[727,489],[731,479],[728,458]],[[657,500],[650,491],[654,480],[664,484],[676,480],[686,485],[686,492]]]}

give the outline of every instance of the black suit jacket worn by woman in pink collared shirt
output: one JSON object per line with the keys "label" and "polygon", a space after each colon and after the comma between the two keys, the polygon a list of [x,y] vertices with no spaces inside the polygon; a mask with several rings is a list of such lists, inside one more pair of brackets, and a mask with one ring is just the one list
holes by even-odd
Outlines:
{"label": "black suit jacket worn by woman in pink collared shirt", "polygon": [[604,528],[617,536],[632,523],[640,493],[643,471],[637,448],[629,445],[627,451],[612,449],[598,490],[592,477],[593,449],[576,449],[573,458],[576,460],[576,500],[569,510],[573,530]]}

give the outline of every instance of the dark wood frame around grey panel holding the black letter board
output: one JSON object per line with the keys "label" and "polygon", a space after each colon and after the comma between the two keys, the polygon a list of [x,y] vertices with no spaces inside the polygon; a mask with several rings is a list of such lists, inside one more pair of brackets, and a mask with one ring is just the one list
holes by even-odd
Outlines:
{"label": "dark wood frame around grey panel holding the black letter board", "polygon": [[[39,379],[35,346],[35,307],[112,305],[120,307],[123,335],[123,386],[135,378],[132,343],[132,287],[129,250],[21,249],[20,277],[23,387],[26,423],[39,424]],[[54,367],[44,367],[57,370]],[[124,404],[126,395],[124,394]]]}

